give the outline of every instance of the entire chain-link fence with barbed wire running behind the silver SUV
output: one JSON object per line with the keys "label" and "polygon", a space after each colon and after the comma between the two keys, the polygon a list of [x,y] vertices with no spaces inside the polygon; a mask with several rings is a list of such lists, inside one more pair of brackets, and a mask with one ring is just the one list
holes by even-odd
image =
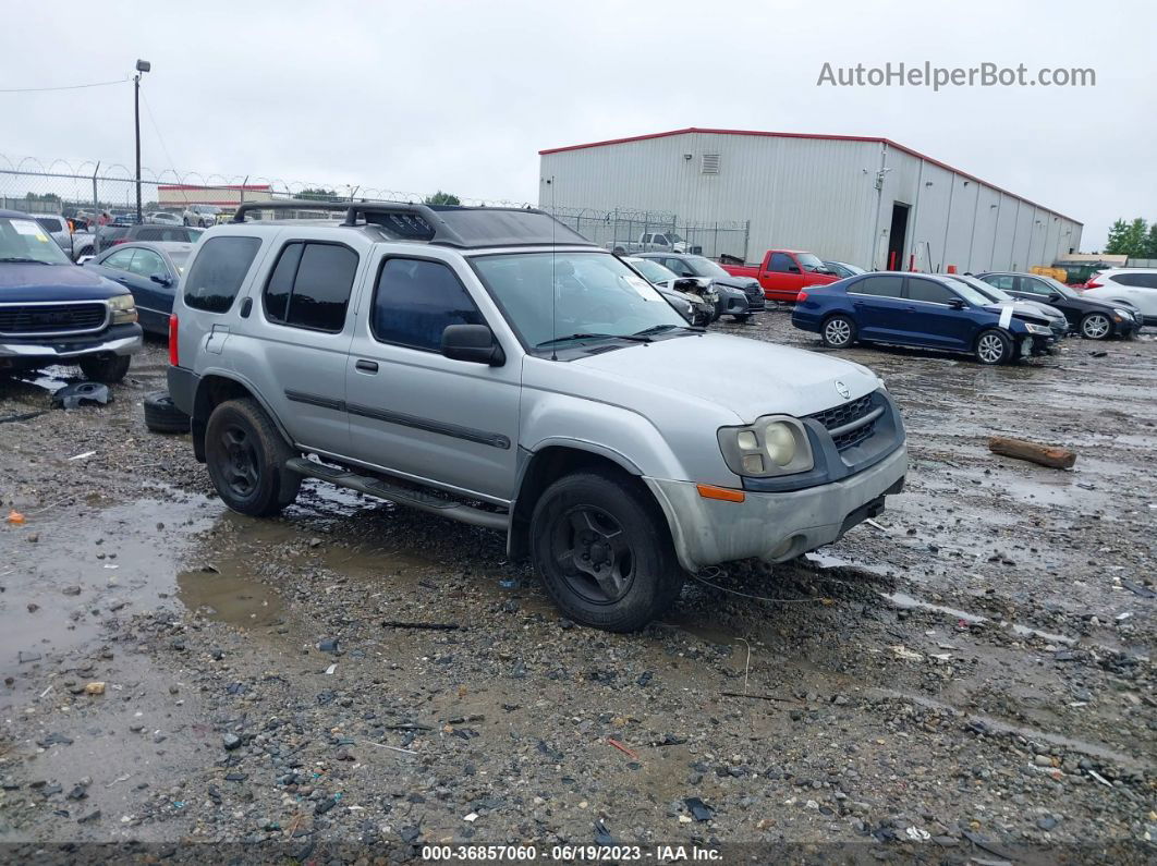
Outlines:
{"label": "entire chain-link fence with barbed wire running behind the silver SUV", "polygon": [[[197,172],[160,176],[142,169],[141,214],[145,222],[205,228],[233,216],[242,203],[302,199],[315,201],[401,201],[532,207],[503,199],[460,199],[444,193],[422,195],[399,190],[359,185],[285,182],[265,177],[201,176]],[[14,163],[0,155],[0,208],[61,216],[78,231],[100,235],[101,227],[137,222],[138,182],[124,165],[101,163],[69,165],[60,161],[45,166],[36,160]],[[709,258],[746,258],[747,222],[697,222],[675,214],[616,208],[545,208],[591,242],[617,252],[694,252]],[[256,213],[270,217],[273,212]],[[278,210],[278,219],[323,219],[332,210]],[[100,251],[84,247],[86,254]],[[80,253],[78,253],[80,254]]]}

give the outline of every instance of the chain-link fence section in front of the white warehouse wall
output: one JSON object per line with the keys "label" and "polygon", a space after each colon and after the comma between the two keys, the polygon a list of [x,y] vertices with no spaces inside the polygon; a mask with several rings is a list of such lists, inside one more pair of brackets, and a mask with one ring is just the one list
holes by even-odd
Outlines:
{"label": "chain-link fence section in front of the white warehouse wall", "polygon": [[675,251],[745,260],[750,222],[697,222],[650,210],[547,207],[583,237],[617,252]]}

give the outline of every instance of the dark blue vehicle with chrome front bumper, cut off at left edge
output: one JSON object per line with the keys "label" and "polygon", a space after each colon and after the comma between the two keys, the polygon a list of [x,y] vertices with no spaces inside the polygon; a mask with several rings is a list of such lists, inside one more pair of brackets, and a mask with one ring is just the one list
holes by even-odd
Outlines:
{"label": "dark blue vehicle with chrome front bumper, cut off at left edge", "polygon": [[0,210],[0,375],[79,364],[119,382],[141,350],[133,296],[78,267],[31,216]]}

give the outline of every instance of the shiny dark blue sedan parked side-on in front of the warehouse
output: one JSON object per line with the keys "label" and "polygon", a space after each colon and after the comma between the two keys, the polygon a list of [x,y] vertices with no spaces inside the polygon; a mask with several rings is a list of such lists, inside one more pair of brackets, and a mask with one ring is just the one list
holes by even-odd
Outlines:
{"label": "shiny dark blue sedan parked side-on in front of the warehouse", "polygon": [[869,273],[799,293],[791,324],[826,346],[861,342],[916,346],[1001,364],[1046,351],[1048,320],[1020,304],[994,304],[951,276]]}

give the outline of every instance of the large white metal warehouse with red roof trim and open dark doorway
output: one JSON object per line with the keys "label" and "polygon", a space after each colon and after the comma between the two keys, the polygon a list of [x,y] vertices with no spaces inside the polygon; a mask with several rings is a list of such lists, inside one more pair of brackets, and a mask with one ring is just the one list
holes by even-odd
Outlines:
{"label": "large white metal warehouse with red roof trim and open dark doorway", "polygon": [[1076,220],[887,139],[692,127],[539,157],[541,207],[747,220],[747,249],[723,251],[747,261],[786,247],[871,269],[1027,271],[1081,249]]}

